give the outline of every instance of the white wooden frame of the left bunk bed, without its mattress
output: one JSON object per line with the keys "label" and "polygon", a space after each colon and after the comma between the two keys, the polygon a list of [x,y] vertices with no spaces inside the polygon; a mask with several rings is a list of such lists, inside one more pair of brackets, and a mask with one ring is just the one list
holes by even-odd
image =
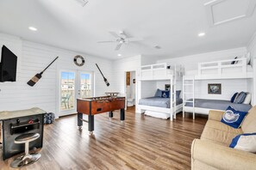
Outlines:
{"label": "white wooden frame of the left bunk bed, without its mattress", "polygon": [[[145,106],[138,105],[140,112],[151,112],[155,117],[161,118],[159,114],[170,115],[170,120],[176,118],[176,113],[181,112],[183,105],[176,106],[176,81],[177,77],[184,75],[184,69],[180,65],[175,65],[174,70],[167,69],[167,64],[151,64],[140,67],[140,75],[138,87],[141,89],[141,82],[143,81],[169,81],[170,82],[170,108],[159,106]],[[174,74],[172,74],[174,73]],[[141,92],[139,92],[138,100],[141,99]]]}

